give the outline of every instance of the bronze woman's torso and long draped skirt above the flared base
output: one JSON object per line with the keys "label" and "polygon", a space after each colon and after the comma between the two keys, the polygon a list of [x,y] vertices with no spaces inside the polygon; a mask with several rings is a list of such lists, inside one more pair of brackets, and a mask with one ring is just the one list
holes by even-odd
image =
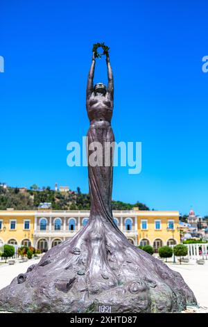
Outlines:
{"label": "bronze woman's torso and long draped skirt above the flared base", "polygon": [[[105,152],[105,142],[114,142],[114,133],[111,127],[112,100],[108,94],[103,99],[100,97],[100,99],[100,101],[96,101],[96,97],[92,97],[87,103],[87,114],[90,121],[87,132],[88,146],[92,142],[99,142],[103,147],[103,166],[91,166],[89,156],[93,151],[88,151],[89,195],[91,199],[89,221],[100,219],[103,223],[110,222],[115,227],[111,205],[113,147],[111,147],[110,152]],[[105,166],[105,159],[108,161],[107,166]]]}

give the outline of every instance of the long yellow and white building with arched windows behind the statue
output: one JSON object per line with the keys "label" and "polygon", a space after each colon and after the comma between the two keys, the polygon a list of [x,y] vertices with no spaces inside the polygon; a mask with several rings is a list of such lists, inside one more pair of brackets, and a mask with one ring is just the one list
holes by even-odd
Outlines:
{"label": "long yellow and white building with arched windows behind the statue", "polygon": [[[180,243],[178,212],[114,211],[114,222],[135,246]],[[89,220],[89,211],[0,211],[0,246],[34,246],[42,251],[71,239]]]}

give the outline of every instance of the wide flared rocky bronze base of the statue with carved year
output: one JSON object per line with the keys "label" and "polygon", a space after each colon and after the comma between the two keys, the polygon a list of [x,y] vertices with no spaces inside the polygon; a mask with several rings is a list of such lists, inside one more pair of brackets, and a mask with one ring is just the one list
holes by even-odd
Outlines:
{"label": "wide flared rocky bronze base of the statue with carved year", "polygon": [[91,219],[0,291],[0,311],[181,312],[196,305],[180,273]]}

